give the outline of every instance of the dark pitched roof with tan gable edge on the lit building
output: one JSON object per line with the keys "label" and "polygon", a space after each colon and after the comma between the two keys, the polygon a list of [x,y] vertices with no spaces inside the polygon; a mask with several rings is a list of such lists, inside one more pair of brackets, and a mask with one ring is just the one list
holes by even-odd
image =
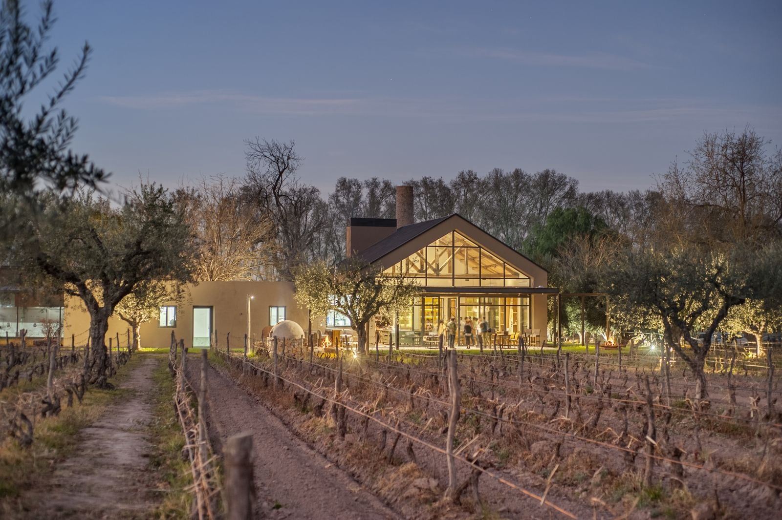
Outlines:
{"label": "dark pitched roof with tan gable edge on the lit building", "polygon": [[[447,221],[448,223],[446,223]],[[465,219],[465,217],[459,215],[458,213],[454,213],[440,219],[426,220],[425,222],[411,224],[410,226],[402,226],[394,233],[391,233],[388,237],[380,240],[378,243],[369,246],[368,248],[364,249],[364,251],[359,251],[356,256],[363,258],[369,263],[378,262],[388,257],[389,255],[392,257],[400,256],[400,253],[402,258],[406,258],[408,255],[411,255],[414,253],[414,251],[418,251],[418,249],[423,246],[418,244],[414,248],[414,251],[407,251],[409,247],[406,248],[405,246],[409,244],[411,240],[420,237],[429,230],[432,230],[432,233],[435,233],[434,228],[436,227],[441,228],[438,232],[441,232],[443,235],[451,230],[459,230],[460,233],[465,234],[465,237],[468,237],[470,240],[474,240],[483,248],[491,251],[494,255],[503,258],[505,262],[514,265],[517,269],[521,269],[522,272],[525,272],[528,276],[532,274],[529,272],[529,268],[531,266],[534,266],[534,268],[540,269],[540,271],[545,273],[548,272],[547,269],[545,269],[542,265],[536,264],[536,262],[533,262],[526,256],[516,251],[514,248],[511,248],[511,246],[508,244],[505,244],[501,240],[497,240],[497,238],[493,237],[490,233],[486,233],[486,231],[482,230],[478,226],[475,226],[475,224],[471,223],[468,219]],[[429,238],[431,238],[430,241],[434,241],[437,240],[440,236],[442,235],[438,235],[436,237],[432,236]],[[400,253],[392,255],[394,251],[397,250],[404,251],[400,251]],[[393,264],[399,262],[399,260],[400,258],[393,258],[393,262],[390,263]],[[386,262],[383,262],[383,265],[385,267],[389,267],[389,265],[385,265],[385,263]]]}

